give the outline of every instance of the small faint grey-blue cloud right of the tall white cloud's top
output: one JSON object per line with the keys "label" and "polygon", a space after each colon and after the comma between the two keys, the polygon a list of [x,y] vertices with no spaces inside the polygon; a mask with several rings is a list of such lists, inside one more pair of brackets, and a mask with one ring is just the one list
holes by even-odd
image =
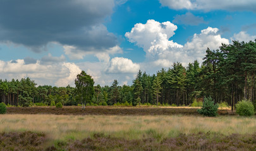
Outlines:
{"label": "small faint grey-blue cloud right of the tall white cloud's top", "polygon": [[204,18],[194,16],[192,13],[188,12],[186,14],[176,15],[174,17],[173,23],[195,26],[207,22],[204,21]]}

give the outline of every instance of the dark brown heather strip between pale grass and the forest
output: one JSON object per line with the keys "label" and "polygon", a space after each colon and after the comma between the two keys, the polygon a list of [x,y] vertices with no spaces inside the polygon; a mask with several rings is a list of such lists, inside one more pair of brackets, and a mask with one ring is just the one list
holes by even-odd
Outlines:
{"label": "dark brown heather strip between pale grass and the forest", "polygon": [[[64,106],[63,108],[42,106],[28,108],[7,108],[7,114],[52,114],[52,115],[199,115],[198,108],[191,107],[132,107],[132,106]],[[233,115],[230,109],[220,112]]]}

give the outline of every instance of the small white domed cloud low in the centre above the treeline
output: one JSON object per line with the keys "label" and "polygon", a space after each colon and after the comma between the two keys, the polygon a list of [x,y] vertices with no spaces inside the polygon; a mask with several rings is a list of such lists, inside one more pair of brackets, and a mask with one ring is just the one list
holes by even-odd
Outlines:
{"label": "small white domed cloud low in the centre above the treeline", "polygon": [[109,63],[107,73],[133,73],[136,74],[140,69],[140,65],[133,63],[130,59],[123,57],[114,57]]}

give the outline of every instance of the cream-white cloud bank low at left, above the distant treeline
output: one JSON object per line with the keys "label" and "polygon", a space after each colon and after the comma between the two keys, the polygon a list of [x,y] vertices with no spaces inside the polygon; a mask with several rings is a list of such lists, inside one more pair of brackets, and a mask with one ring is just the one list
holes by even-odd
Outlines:
{"label": "cream-white cloud bank low at left, above the distant treeline", "polygon": [[39,60],[35,64],[25,64],[23,59],[12,62],[0,60],[0,79],[30,77],[39,85],[74,86],[76,75],[81,72],[77,65],[65,62],[51,65],[39,64]]}

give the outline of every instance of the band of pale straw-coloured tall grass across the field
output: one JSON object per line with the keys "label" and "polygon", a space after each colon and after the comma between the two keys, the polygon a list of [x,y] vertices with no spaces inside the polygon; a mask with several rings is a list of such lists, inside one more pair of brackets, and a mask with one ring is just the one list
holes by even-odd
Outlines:
{"label": "band of pale straw-coloured tall grass across the field", "polygon": [[255,118],[220,116],[73,116],[73,115],[0,115],[0,131],[44,132],[49,140],[82,139],[94,133],[113,137],[140,139],[155,137],[161,140],[176,137],[180,133],[199,131],[255,133]]}

